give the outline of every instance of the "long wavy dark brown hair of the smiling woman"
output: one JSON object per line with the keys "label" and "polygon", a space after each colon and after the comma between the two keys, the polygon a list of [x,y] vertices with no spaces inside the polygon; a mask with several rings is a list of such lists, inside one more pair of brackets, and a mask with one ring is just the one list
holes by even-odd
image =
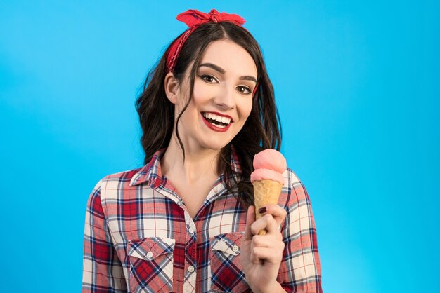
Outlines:
{"label": "long wavy dark brown hair of the smiling woman", "polygon": [[[268,78],[261,50],[257,41],[246,29],[231,22],[209,22],[195,29],[183,44],[173,73],[181,83],[186,71],[189,70],[190,98],[176,118],[176,137],[181,145],[183,156],[185,156],[177,124],[193,97],[194,77],[202,53],[209,43],[221,39],[231,40],[247,50],[257,66],[258,88],[252,103],[252,111],[242,130],[228,145],[221,149],[217,166],[217,169],[224,175],[226,189],[238,196],[246,205],[252,205],[254,203],[254,189],[250,182],[250,173],[253,170],[254,155],[269,148],[279,151],[281,130],[273,86]],[[151,160],[157,150],[168,147],[173,132],[174,104],[168,100],[164,86],[164,77],[167,75],[167,51],[148,73],[147,79],[143,83],[143,91],[136,100],[136,110],[143,132],[141,144],[145,151],[145,164]],[[191,64],[193,65],[190,66]],[[240,159],[242,174],[239,178],[235,178],[231,170],[231,146]]]}

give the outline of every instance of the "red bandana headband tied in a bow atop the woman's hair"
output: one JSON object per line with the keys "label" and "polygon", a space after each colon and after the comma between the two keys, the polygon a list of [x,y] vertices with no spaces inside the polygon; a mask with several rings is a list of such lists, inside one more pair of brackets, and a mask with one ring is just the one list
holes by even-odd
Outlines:
{"label": "red bandana headband tied in a bow atop the woman's hair", "polygon": [[[167,53],[167,69],[168,72],[172,72],[174,70],[174,66],[176,65],[176,60],[179,57],[179,53],[183,47],[183,43],[188,39],[188,36],[192,34],[195,29],[197,29],[200,25],[207,22],[233,22],[235,25],[242,27],[246,21],[240,15],[237,14],[229,14],[226,12],[219,13],[215,9],[209,11],[209,13],[203,13],[195,9],[190,9],[183,13],[180,13],[176,17],[177,20],[181,22],[185,22],[188,25],[189,29],[186,30],[181,36],[179,36],[172,46],[169,48]],[[244,28],[244,27],[243,27]],[[257,86],[254,88],[254,92],[252,96],[257,91]]]}

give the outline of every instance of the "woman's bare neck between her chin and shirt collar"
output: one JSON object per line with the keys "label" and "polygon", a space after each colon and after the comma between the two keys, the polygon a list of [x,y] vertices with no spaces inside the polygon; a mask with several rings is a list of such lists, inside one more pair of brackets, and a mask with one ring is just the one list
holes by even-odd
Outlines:
{"label": "woman's bare neck between her chin and shirt collar", "polygon": [[183,151],[177,139],[173,137],[160,161],[162,175],[179,176],[180,180],[188,184],[205,178],[216,179],[219,176],[217,170],[219,153],[219,149],[185,147],[185,160],[183,160]]}

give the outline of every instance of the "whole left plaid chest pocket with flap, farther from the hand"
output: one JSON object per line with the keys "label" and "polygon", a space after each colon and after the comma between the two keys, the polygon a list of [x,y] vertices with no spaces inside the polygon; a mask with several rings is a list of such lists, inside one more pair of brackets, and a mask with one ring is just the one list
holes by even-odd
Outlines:
{"label": "whole left plaid chest pocket with flap, farther from the hand", "polygon": [[175,243],[157,237],[129,241],[130,292],[172,292]]}

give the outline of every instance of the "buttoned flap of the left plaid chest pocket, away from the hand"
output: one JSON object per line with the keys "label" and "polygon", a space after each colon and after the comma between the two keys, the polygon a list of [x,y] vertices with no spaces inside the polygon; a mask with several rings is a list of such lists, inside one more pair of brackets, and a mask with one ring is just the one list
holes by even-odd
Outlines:
{"label": "buttoned flap of the left plaid chest pocket, away from the hand", "polygon": [[130,257],[137,257],[138,259],[149,261],[162,254],[172,253],[175,243],[175,239],[157,237],[129,240],[127,254]]}

